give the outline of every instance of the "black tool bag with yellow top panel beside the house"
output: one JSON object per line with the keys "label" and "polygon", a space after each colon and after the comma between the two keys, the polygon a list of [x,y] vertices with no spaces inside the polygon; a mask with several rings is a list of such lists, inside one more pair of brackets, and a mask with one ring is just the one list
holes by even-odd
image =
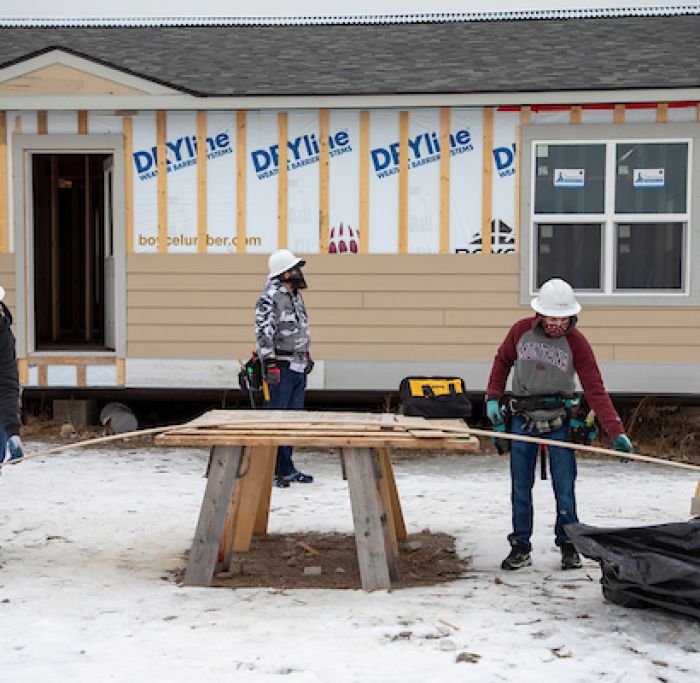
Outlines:
{"label": "black tool bag with yellow top panel beside the house", "polygon": [[399,412],[414,417],[467,418],[472,404],[461,377],[404,377]]}

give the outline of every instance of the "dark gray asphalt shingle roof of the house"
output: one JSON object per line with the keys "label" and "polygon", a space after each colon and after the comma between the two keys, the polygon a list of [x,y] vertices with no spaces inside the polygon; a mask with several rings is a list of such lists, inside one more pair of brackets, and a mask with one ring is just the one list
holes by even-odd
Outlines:
{"label": "dark gray asphalt shingle roof of the house", "polygon": [[202,96],[700,86],[700,15],[376,25],[0,28]]}

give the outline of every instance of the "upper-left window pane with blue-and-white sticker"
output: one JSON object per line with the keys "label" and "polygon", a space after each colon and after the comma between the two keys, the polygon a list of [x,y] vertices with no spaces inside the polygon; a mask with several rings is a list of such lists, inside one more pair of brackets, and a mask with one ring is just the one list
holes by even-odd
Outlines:
{"label": "upper-left window pane with blue-and-white sticker", "polygon": [[605,145],[535,144],[535,213],[603,213]]}

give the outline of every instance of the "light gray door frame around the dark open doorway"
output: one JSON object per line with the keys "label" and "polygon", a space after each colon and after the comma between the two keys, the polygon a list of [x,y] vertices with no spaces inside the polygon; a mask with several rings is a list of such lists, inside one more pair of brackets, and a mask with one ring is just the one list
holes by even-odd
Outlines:
{"label": "light gray door frame around the dark open doorway", "polygon": [[[124,138],[122,135],[16,135],[13,139],[15,179],[13,184],[14,244],[16,261],[17,356],[56,355],[36,350],[34,325],[34,202],[32,156],[34,154],[111,154],[114,160],[112,212],[114,225],[114,312],[115,350],[95,353],[126,357],[126,236],[124,187]],[[82,351],[62,351],[59,355],[84,355]]]}

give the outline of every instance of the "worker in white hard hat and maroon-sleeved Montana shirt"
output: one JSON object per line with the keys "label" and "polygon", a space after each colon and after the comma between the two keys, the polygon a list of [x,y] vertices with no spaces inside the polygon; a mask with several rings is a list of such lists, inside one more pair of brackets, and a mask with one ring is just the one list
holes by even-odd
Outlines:
{"label": "worker in white hard hat and maroon-sleeved Montana shirt", "polygon": [[[568,441],[569,413],[575,392],[575,376],[588,405],[595,411],[616,450],[631,453],[619,415],[605,391],[593,349],[576,328],[581,305],[568,282],[548,280],[531,303],[536,315],[511,327],[496,353],[486,393],[486,413],[494,425],[503,423],[500,399],[513,368],[510,428],[512,434]],[[511,442],[510,475],[513,531],[508,536],[510,554],[503,569],[532,564],[532,487],[538,446]],[[564,531],[576,516],[576,458],[573,450],[550,446],[549,466],[557,504],[555,543],[561,549],[562,569],[581,566],[581,558]]]}

